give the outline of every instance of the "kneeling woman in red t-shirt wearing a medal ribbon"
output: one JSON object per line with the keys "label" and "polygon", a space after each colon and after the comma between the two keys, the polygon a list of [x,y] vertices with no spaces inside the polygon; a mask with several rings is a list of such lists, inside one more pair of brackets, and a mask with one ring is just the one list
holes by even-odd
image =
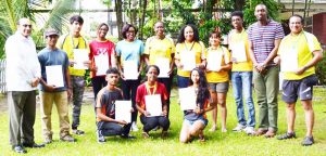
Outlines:
{"label": "kneeling woman in red t-shirt wearing a medal ribbon", "polygon": [[[163,128],[162,130],[162,139],[167,136],[167,130],[170,127],[170,120],[166,117],[167,115],[167,105],[166,100],[168,98],[165,86],[161,82],[158,82],[158,76],[160,74],[160,69],[156,65],[149,65],[146,68],[147,81],[140,84],[137,89],[136,94],[136,107],[139,110],[140,121],[143,125],[142,128],[142,136],[145,139],[149,138],[149,131],[153,130],[155,127],[160,126]],[[146,105],[146,96],[160,95],[162,102],[162,115],[161,116],[151,116],[151,114],[147,110]]]}

